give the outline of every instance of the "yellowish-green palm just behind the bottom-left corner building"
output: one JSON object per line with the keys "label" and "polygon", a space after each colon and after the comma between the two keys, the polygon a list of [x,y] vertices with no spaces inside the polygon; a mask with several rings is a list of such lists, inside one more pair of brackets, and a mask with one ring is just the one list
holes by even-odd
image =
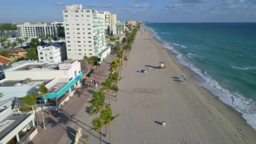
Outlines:
{"label": "yellowish-green palm just behind the bottom-left corner building", "polygon": [[[36,124],[38,125],[37,120],[37,96],[35,96],[33,93],[28,94],[24,98],[22,98],[23,102],[21,104],[24,104],[25,107],[32,107],[32,111],[34,112],[35,109],[35,120]],[[37,127],[36,125],[36,127]]]}

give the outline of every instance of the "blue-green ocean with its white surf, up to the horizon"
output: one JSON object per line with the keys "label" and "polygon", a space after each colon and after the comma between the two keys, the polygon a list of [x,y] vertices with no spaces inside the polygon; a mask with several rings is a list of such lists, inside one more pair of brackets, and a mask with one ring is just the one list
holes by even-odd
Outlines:
{"label": "blue-green ocean with its white surf, up to the horizon", "polygon": [[146,23],[196,82],[256,129],[256,23]]}

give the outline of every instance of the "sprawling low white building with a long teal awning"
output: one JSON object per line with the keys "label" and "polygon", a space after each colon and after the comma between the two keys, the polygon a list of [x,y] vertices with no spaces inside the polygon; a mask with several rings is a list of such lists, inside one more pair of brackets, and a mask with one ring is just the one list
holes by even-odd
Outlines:
{"label": "sprawling low white building with a long teal awning", "polygon": [[[79,61],[63,63],[23,62],[4,70],[5,79],[0,80],[0,101],[13,97],[22,98],[29,93],[37,94],[37,88],[45,84],[48,88],[48,99],[58,99],[62,96],[72,96],[82,83]],[[45,96],[41,99],[46,99]]]}

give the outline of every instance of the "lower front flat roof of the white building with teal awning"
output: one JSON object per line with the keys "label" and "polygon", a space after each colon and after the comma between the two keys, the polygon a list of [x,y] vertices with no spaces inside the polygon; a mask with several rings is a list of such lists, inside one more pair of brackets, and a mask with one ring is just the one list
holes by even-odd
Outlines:
{"label": "lower front flat roof of the white building with teal awning", "polygon": [[5,87],[5,86],[39,86],[42,83],[47,84],[51,80],[29,80],[28,83],[22,84],[24,80],[5,80],[2,83],[0,83],[0,87]]}

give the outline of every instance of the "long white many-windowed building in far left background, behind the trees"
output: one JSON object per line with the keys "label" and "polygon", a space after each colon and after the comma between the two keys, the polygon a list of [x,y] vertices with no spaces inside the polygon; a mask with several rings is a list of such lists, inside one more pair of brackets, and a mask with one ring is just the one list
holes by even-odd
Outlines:
{"label": "long white many-windowed building in far left background, behind the trees", "polygon": [[56,37],[57,25],[63,24],[62,22],[54,21],[51,24],[45,23],[29,23],[17,24],[19,37],[40,37],[41,35],[51,35]]}

